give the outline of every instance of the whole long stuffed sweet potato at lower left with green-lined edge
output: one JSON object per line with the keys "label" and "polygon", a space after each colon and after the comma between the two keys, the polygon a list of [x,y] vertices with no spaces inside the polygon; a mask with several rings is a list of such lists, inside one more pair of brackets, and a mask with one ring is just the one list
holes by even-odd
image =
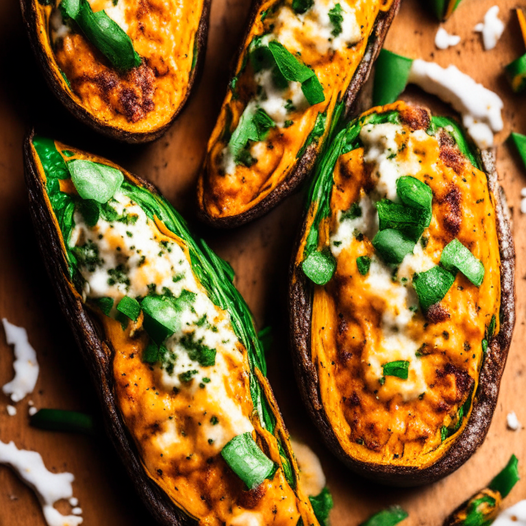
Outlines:
{"label": "whole long stuffed sweet potato at lower left with green-lined edge", "polygon": [[25,168],[49,275],[155,520],[317,525],[231,267],[106,160],[29,136]]}

